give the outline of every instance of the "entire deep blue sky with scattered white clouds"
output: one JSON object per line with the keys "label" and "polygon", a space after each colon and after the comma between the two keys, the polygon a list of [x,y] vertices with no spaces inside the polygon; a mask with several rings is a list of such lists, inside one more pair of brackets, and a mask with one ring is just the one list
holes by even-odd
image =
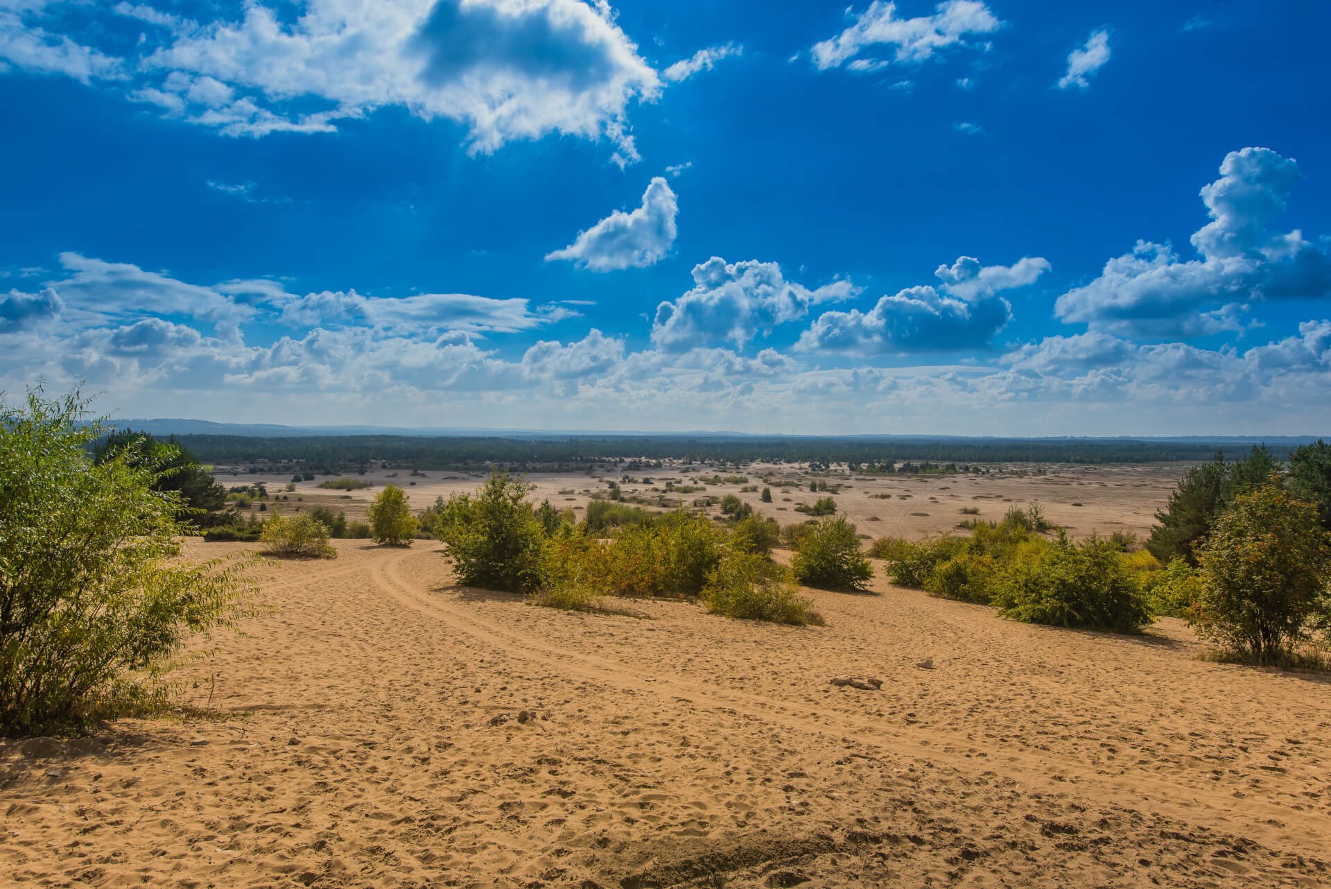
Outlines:
{"label": "entire deep blue sky with scattered white clouds", "polygon": [[0,0],[0,390],[297,425],[1322,434],[1328,25]]}

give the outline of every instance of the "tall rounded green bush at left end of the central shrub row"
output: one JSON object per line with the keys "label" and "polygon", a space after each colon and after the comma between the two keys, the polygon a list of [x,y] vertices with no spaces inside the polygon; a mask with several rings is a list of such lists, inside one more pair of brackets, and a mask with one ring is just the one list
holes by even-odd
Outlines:
{"label": "tall rounded green bush at left end of the central shrub row", "polygon": [[446,500],[434,522],[458,583],[526,592],[540,586],[544,534],[524,498],[531,484],[495,470],[474,494]]}

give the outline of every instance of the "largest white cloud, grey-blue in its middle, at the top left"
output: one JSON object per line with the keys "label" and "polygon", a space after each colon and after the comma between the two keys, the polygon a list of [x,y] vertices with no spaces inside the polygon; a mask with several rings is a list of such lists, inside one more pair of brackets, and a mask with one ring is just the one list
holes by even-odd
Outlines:
{"label": "largest white cloud, grey-blue in its middle, at the top left", "polygon": [[160,28],[117,60],[3,12],[0,59],[85,83],[133,72],[126,97],[228,136],[331,132],[402,106],[458,121],[473,153],[559,133],[606,138],[622,164],[638,160],[630,105],[662,88],[608,5],[582,0],[307,0],[294,16],[253,0],[206,24],[146,4],[101,12]]}

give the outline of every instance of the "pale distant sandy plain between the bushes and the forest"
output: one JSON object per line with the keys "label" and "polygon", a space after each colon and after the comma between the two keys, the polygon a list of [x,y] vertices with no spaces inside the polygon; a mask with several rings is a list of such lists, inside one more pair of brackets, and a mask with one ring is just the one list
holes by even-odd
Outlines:
{"label": "pale distant sandy plain between the bushes and the forest", "polygon": [[[1130,531],[1145,536],[1155,522],[1155,510],[1163,506],[1178,479],[1187,471],[1187,464],[1147,464],[1147,466],[1049,466],[1045,475],[1017,475],[1020,470],[1030,472],[1030,466],[1010,466],[1008,472],[990,475],[877,475],[852,474],[840,467],[827,472],[809,472],[792,466],[752,464],[744,470],[717,470],[709,466],[693,464],[689,471],[672,463],[660,470],[606,470],[594,475],[586,472],[532,472],[526,478],[534,484],[532,498],[547,499],[559,508],[583,510],[594,494],[606,495],[607,482],[619,479],[627,472],[635,479],[651,478],[651,484],[619,482],[626,499],[642,496],[655,500],[666,496],[671,502],[681,500],[691,506],[695,499],[707,496],[721,498],[735,494],[749,503],[756,512],[769,515],[783,524],[803,522],[808,516],[795,511],[795,507],[824,496],[833,496],[837,510],[849,516],[862,534],[873,538],[882,535],[921,536],[953,528],[957,522],[969,518],[1001,519],[1013,504],[1026,507],[1038,503],[1050,522],[1069,528],[1075,536],[1085,536],[1091,530],[1102,534]],[[994,467],[997,468],[997,466]],[[689,494],[666,492],[666,482],[679,484],[699,484],[699,476],[747,476],[748,484],[705,483],[705,490]],[[474,491],[484,480],[480,472],[439,472],[429,471],[425,476],[413,478],[406,470],[371,470],[365,475],[351,475],[370,482],[374,487],[359,491],[330,491],[318,487],[327,480],[319,476],[313,482],[299,482],[295,490],[286,492],[287,475],[218,475],[217,480],[228,487],[250,484],[262,480],[270,495],[286,495],[287,500],[269,502],[270,511],[287,514],[297,507],[303,510],[314,506],[329,506],[346,512],[349,520],[365,520],[365,510],[374,495],[387,483],[395,483],[407,492],[411,508],[422,510],[435,498],[449,498],[457,492]],[[760,499],[763,479],[795,482],[793,487],[772,486],[772,503]],[[809,491],[809,482],[817,479],[828,484],[841,484],[836,494]],[[747,486],[757,486],[757,491],[743,491]],[[299,499],[297,499],[299,498]],[[1077,504],[1077,506],[1074,506]],[[644,503],[644,508],[659,508]],[[964,507],[978,508],[978,515],[966,515]],[[257,504],[250,507],[256,512]],[[709,512],[720,515],[713,506]]]}

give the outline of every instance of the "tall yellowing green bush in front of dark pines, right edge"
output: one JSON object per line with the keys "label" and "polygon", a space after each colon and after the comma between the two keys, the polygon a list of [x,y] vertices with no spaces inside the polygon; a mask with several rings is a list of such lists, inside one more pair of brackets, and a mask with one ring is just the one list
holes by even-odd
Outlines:
{"label": "tall yellowing green bush in front of dark pines, right edge", "polygon": [[1246,660],[1286,663],[1295,643],[1331,619],[1331,550],[1316,507],[1274,479],[1235,498],[1198,560],[1191,623]]}

